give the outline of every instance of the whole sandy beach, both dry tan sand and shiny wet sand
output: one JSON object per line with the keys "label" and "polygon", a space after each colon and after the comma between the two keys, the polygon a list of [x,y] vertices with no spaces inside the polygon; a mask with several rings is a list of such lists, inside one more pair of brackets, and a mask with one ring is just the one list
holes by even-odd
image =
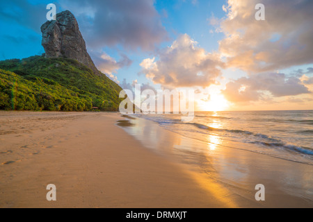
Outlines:
{"label": "whole sandy beach, both dry tan sand and shiny wet sand", "polygon": [[[131,120],[143,140],[117,121],[125,117],[0,112],[0,207],[313,206],[312,194],[303,194],[312,187],[312,166],[222,147],[201,156],[209,166],[195,166],[176,146],[202,144]],[[262,182],[266,201],[258,202],[254,186]],[[49,184],[56,201],[46,199]]]}

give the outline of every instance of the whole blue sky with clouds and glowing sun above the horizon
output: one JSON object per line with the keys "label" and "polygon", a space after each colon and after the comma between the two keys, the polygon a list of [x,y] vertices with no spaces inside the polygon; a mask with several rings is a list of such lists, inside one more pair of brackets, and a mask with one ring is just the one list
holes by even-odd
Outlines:
{"label": "whole blue sky with clouds and glowing sun above the horizon", "polygon": [[313,1],[1,0],[0,60],[45,52],[49,3],[124,89],[194,89],[197,110],[313,110]]}

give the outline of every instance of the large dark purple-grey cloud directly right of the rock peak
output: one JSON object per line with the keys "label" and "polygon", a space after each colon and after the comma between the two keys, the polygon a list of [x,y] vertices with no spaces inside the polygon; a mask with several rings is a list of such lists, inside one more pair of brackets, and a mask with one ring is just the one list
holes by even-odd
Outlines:
{"label": "large dark purple-grey cloud directly right of the rock peak", "polygon": [[150,51],[168,40],[154,0],[61,0],[60,3],[77,17],[88,46],[121,44],[126,49]]}

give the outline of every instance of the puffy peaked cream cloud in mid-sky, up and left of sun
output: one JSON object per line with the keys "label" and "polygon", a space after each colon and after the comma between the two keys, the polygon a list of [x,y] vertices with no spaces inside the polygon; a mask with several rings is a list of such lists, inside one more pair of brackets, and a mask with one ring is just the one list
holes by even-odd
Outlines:
{"label": "puffy peaked cream cloud in mid-sky, up and left of sun", "polygon": [[147,78],[166,87],[207,87],[216,83],[223,63],[220,59],[197,46],[187,34],[180,35],[170,47],[161,49],[157,58],[141,62]]}

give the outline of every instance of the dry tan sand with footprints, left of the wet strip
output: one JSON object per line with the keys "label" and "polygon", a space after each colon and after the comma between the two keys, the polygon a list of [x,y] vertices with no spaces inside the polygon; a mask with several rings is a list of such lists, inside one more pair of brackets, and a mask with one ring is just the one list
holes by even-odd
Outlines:
{"label": "dry tan sand with footprints, left of the wet strip", "polygon": [[[0,207],[223,207],[115,126],[117,113],[0,112]],[[46,187],[56,185],[56,201]]]}

